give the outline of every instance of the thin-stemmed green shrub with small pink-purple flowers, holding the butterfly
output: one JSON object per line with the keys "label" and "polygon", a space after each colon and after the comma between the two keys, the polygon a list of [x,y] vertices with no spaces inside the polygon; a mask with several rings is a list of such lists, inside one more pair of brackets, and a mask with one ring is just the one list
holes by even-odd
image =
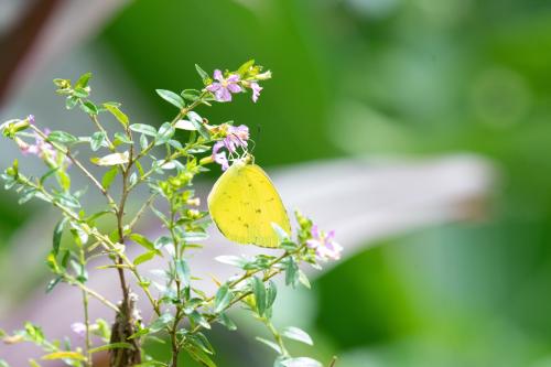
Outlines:
{"label": "thin-stemmed green shrub with small pink-purple flowers, holding the butterfly", "polygon": [[[201,198],[192,190],[193,180],[208,171],[210,164],[218,163],[225,171],[233,161],[249,154],[249,131],[245,125],[213,125],[195,109],[212,106],[213,102],[231,101],[234,95],[248,90],[256,102],[262,90],[259,83],[271,77],[270,72],[262,72],[262,67],[253,61],[235,72],[217,69],[213,77],[199,66],[196,68],[204,84],[202,89],[185,89],[181,94],[156,90],[162,99],[177,108],[172,121],[161,125],[159,129],[131,123],[118,102],[93,101],[90,74],[83,75],[74,84],[68,79],[55,79],[54,84],[57,94],[65,96],[67,109],[79,108],[89,117],[95,129],[91,136],[76,137],[67,131],[42,129],[33,116],[1,125],[2,134],[13,140],[23,154],[36,155],[47,166],[47,172],[36,177],[21,172],[15,160],[2,174],[6,188],[18,192],[20,204],[36,198],[53,205],[61,214],[46,259],[54,274],[46,292],[60,283],[77,288],[82,292],[84,312],[83,322],[72,325],[73,331],[84,338],[82,346],[48,341],[42,330],[32,323],[11,334],[0,331],[6,343],[32,342],[44,350],[42,359],[58,359],[68,366],[91,366],[96,353],[108,350],[110,366],[117,367],[176,366],[182,352],[201,365],[212,367],[216,364],[207,331],[213,323],[236,330],[227,311],[241,305],[266,324],[272,334],[272,341],[258,339],[277,352],[274,366],[322,366],[315,359],[294,357],[289,353],[285,346],[288,339],[306,344],[312,344],[312,339],[296,327],[276,328],[271,316],[277,285],[271,279],[284,273],[287,285],[310,287],[300,266],[307,263],[320,268],[322,261],[338,259],[342,248],[334,241],[333,233],[321,231],[296,212],[294,237],[274,226],[280,241],[279,256],[263,253],[249,259],[222,256],[217,259],[238,268],[237,273],[216,281],[217,291],[214,294],[195,287],[196,278],[186,255],[192,248],[201,248],[196,244],[207,237],[210,220],[208,211],[199,209]],[[114,134],[104,128],[101,120],[106,115],[112,115],[118,121],[119,131]],[[78,158],[77,149],[88,148],[98,156],[84,162]],[[158,158],[159,154],[162,158]],[[90,164],[104,169],[100,177],[91,173]],[[85,192],[75,191],[71,180],[71,175],[77,173],[84,175],[105,197],[101,211],[83,206]],[[120,185],[114,185],[117,180]],[[138,211],[129,213],[129,197],[141,185],[149,187],[149,196],[137,197],[137,201],[141,199],[141,205]],[[115,193],[114,187],[120,187],[120,192]],[[159,205],[164,209],[159,209]],[[149,238],[136,231],[136,225],[147,211],[151,211],[165,229],[159,238]],[[115,230],[101,229],[97,225],[101,217],[112,219]],[[67,246],[62,245],[65,231],[72,238],[72,244]],[[141,246],[144,252],[130,259],[129,246]],[[168,259],[164,268],[155,270],[155,274],[162,278],[160,282],[149,279],[140,269],[142,263],[155,257]],[[114,303],[87,284],[90,258],[106,261],[100,267],[105,269],[101,271],[116,271],[121,289],[119,303]],[[130,289],[128,277],[136,279],[138,289]],[[136,303],[138,296],[149,301],[154,314],[151,322],[141,320]],[[89,319],[90,298],[112,311],[111,323]],[[171,356],[166,360],[153,359],[143,348],[145,339],[156,336],[166,338],[171,345]],[[33,359],[30,364],[40,366]],[[0,366],[8,365],[0,360]]]}

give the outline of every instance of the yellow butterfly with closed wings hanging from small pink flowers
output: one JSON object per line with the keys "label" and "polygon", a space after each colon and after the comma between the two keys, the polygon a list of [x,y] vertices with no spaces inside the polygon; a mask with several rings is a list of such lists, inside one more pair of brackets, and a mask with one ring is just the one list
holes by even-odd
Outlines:
{"label": "yellow butterfly with closed wings hanging from small pink flowers", "polygon": [[208,194],[208,211],[222,234],[238,244],[278,247],[272,223],[291,234],[291,224],[268,174],[250,162],[237,160]]}

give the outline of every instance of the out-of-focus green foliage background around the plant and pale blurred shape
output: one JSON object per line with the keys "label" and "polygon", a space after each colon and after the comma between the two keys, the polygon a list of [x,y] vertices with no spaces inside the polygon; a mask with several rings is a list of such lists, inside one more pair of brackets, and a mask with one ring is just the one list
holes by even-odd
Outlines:
{"label": "out-of-focus green foliage background around the plant and pale blurred shape", "polygon": [[[36,2],[0,1],[6,71],[15,73],[10,30]],[[195,86],[195,63],[212,71],[255,57],[273,72],[259,104],[237,98],[208,116],[249,125],[263,166],[356,155],[488,159],[499,180],[482,218],[366,244],[312,291],[283,298],[277,321],[311,331],[316,346],[295,350],[327,361],[337,355],[337,367],[551,366],[549,1],[136,0],[114,8],[69,51],[40,67],[26,60],[17,77],[0,74],[10,79],[2,119],[33,112],[44,123],[76,123],[51,79],[91,71],[96,96],[160,125],[173,110],[155,88]],[[18,155],[8,145],[2,169]],[[47,280],[40,259],[47,249],[9,255],[14,234],[41,213],[39,204],[15,203],[0,193],[0,319]],[[238,334],[213,332],[216,359],[269,366],[256,326],[241,322]]]}

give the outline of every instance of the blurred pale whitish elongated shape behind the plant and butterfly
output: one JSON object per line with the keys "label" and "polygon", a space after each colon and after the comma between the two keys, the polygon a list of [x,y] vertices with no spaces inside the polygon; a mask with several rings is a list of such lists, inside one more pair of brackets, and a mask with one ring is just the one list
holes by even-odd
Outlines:
{"label": "blurred pale whitish elongated shape behind the plant and butterfly", "polygon": [[[336,229],[337,239],[345,247],[346,258],[365,249],[369,242],[386,236],[423,226],[477,217],[478,204],[490,192],[494,170],[482,158],[452,155],[429,160],[320,161],[274,170],[271,171],[271,176],[288,205],[300,207],[322,228]],[[209,185],[198,188],[199,192],[206,193]],[[55,223],[54,217],[37,214],[35,220],[31,220],[19,235],[14,236],[13,241],[17,246],[13,244],[9,248],[19,253],[24,251],[26,255],[48,249],[50,236],[39,236],[37,233],[50,233]],[[236,272],[235,268],[215,261],[215,257],[268,251],[253,246],[228,245],[216,228],[212,229],[213,237],[206,241],[204,249],[187,253],[194,273],[204,279],[202,285],[208,292],[215,290],[214,282],[209,280],[212,276],[225,279]],[[153,228],[148,229],[143,226],[139,231],[155,236],[160,228],[155,222]],[[140,247],[128,248],[130,258],[140,252]],[[20,255],[11,259],[18,263],[19,257]],[[144,263],[143,273],[148,269],[163,267],[163,261],[164,259]],[[115,272],[94,270],[104,263],[107,263],[106,259],[91,261],[88,285],[112,302],[117,302],[120,299],[120,290],[114,282]],[[328,263],[325,270],[332,266],[334,263]],[[310,276],[318,272],[311,272]],[[51,295],[45,295],[44,287],[45,282],[26,304],[14,305],[13,310],[4,312],[4,317],[0,317],[2,320],[0,327],[13,330],[20,327],[25,320],[31,320],[42,325],[51,337],[71,335],[69,325],[82,321],[80,292],[61,285]],[[140,291],[137,289],[136,291],[142,298],[140,306],[144,320],[149,320],[151,310],[143,302]],[[6,315],[10,317],[7,319]],[[96,317],[112,320],[112,316],[110,310],[97,301],[91,301],[93,320]],[[9,361],[20,366],[26,358],[40,354],[32,346],[18,345],[10,346],[9,349],[0,346],[0,355],[9,356]]]}

